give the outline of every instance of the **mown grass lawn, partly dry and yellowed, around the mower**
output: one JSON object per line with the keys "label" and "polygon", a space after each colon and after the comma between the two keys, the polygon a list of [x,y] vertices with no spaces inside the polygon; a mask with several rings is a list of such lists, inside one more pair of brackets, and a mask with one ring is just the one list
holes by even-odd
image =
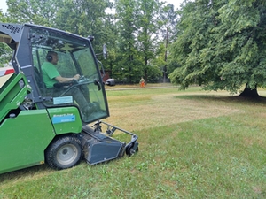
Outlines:
{"label": "mown grass lawn, partly dry and yellowed, around the mower", "polygon": [[157,86],[163,88],[106,90],[105,121],[138,135],[136,155],[63,171],[40,165],[5,173],[0,199],[266,198],[266,99]]}

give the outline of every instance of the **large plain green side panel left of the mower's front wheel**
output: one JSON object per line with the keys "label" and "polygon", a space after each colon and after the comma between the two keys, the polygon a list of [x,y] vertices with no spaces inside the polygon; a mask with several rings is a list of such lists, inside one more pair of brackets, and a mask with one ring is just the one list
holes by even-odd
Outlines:
{"label": "large plain green side panel left of the mower's front wheel", "polygon": [[46,110],[20,111],[0,129],[0,173],[44,163],[44,150],[55,136]]}

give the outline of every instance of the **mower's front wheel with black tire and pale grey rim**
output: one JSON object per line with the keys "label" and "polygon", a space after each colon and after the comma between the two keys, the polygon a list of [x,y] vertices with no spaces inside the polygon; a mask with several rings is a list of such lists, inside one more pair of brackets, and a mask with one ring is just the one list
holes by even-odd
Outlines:
{"label": "mower's front wheel with black tire and pale grey rim", "polygon": [[78,165],[82,158],[81,141],[74,136],[62,136],[45,150],[45,161],[53,169],[67,169]]}

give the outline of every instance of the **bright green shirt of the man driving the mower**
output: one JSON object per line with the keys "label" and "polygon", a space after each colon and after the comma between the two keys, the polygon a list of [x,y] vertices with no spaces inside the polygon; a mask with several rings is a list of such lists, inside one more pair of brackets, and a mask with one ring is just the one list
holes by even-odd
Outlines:
{"label": "bright green shirt of the man driving the mower", "polygon": [[42,73],[43,73],[43,82],[46,88],[53,88],[54,83],[58,81],[55,80],[56,77],[60,76],[55,65],[50,62],[44,62],[42,65]]}

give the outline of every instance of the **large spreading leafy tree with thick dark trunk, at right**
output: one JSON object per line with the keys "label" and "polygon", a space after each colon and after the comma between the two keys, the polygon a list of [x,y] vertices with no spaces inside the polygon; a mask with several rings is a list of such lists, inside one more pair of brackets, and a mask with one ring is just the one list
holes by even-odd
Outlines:
{"label": "large spreading leafy tree with thick dark trunk, at right", "polygon": [[245,85],[242,95],[257,96],[256,88],[266,86],[265,11],[262,0],[186,4],[171,55],[181,67],[170,79],[181,88],[198,83],[233,93]]}

